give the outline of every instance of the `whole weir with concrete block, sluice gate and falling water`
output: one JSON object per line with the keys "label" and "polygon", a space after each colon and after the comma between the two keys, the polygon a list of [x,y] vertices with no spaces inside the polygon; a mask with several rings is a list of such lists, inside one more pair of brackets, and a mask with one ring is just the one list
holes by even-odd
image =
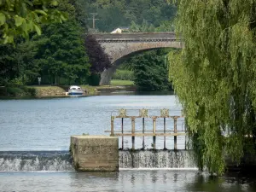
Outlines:
{"label": "whole weir with concrete block, sluice gate and falling water", "polygon": [[[183,119],[178,114],[180,111],[172,111],[172,115],[167,109],[150,110],[150,114],[148,109],[139,111],[120,109],[117,112],[119,114],[113,113],[111,117],[113,137],[72,137],[71,154],[68,151],[0,152],[0,172],[195,168],[189,152],[177,148],[179,146],[177,139],[173,139],[173,145],[170,145],[171,141],[166,142],[167,137],[183,137],[181,134],[185,133]],[[127,136],[131,138],[130,149],[129,147],[125,149],[124,146],[126,142],[124,137]],[[122,138],[121,143],[118,142],[118,137]],[[142,140],[136,140],[135,137]],[[164,139],[159,140],[160,137]],[[148,145],[150,149],[147,149],[148,141],[152,142]],[[156,149],[157,141],[160,141],[165,150]],[[182,143],[184,141],[186,140],[182,140]],[[137,148],[143,147],[143,150],[135,149],[136,144],[139,146]],[[122,150],[119,150],[119,146]]]}

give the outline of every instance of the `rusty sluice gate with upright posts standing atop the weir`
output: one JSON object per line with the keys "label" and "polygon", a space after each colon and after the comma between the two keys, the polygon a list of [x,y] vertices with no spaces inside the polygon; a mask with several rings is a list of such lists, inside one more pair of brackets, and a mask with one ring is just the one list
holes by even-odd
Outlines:
{"label": "rusty sluice gate with upright posts standing atop the weir", "polygon": [[[135,138],[142,137],[142,149],[145,149],[145,139],[152,137],[151,146],[156,149],[156,137],[163,137],[163,149],[167,149],[166,137],[173,137],[174,146],[177,150],[177,137],[185,137],[184,145],[186,149],[187,133],[184,124],[184,117],[177,115],[180,111],[171,111],[163,108],[157,109],[125,109],[121,108],[111,114],[111,137],[121,137],[121,148],[125,149],[124,137],[131,137],[131,149],[135,149]],[[130,121],[130,122],[129,122]],[[146,127],[146,121],[149,123]],[[168,121],[168,123],[167,123]],[[125,125],[126,122],[126,125]],[[150,125],[151,122],[151,125]],[[130,124],[130,125],[128,125]],[[128,125],[128,126],[127,126]],[[129,128],[130,126],[130,128]],[[148,129],[149,127],[149,129]],[[141,128],[141,129],[137,129]],[[171,149],[171,148],[169,148]]]}

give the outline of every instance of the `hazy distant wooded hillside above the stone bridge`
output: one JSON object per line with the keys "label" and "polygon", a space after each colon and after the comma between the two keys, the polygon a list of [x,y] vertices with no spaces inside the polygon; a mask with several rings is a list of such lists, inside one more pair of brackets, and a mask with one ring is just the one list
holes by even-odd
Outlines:
{"label": "hazy distant wooded hillside above the stone bridge", "polygon": [[[98,14],[96,28],[100,32],[112,32],[121,26],[131,26],[131,32],[154,32],[164,20],[176,15],[175,6],[159,0],[79,0],[79,3],[87,12],[84,20],[91,18],[90,13]],[[87,24],[92,27],[92,21]]]}

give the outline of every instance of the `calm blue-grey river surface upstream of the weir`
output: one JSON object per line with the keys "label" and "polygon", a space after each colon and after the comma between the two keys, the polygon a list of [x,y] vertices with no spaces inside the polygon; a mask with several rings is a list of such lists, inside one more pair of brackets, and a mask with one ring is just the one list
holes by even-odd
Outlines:
{"label": "calm blue-grey river surface upstream of the weir", "polygon": [[[0,100],[0,107],[0,151],[68,150],[71,135],[109,135],[104,131],[110,130],[111,113],[119,108],[169,108],[178,114],[181,109],[175,96]],[[126,120],[125,125],[131,129],[131,121]],[[126,138],[126,143],[129,147],[131,138]],[[150,148],[151,143],[151,140],[147,143]],[[141,147],[140,143],[137,148]]]}

